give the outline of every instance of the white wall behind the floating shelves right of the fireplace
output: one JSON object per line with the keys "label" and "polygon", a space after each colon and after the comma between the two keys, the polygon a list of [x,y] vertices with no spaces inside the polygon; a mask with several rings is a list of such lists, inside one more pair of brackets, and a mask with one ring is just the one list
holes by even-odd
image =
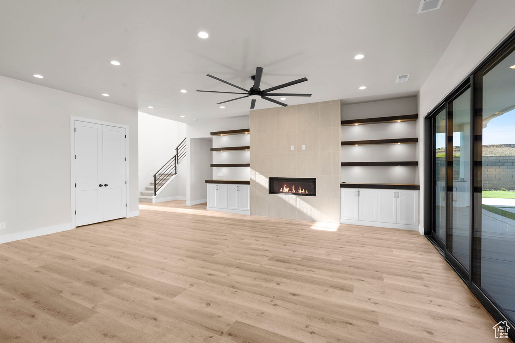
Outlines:
{"label": "white wall behind the floating shelves right of the fireplace", "polygon": [[[342,120],[416,114],[416,97],[342,106]],[[341,127],[341,140],[418,137],[416,121],[350,125]],[[416,161],[417,144],[342,146],[342,162]],[[418,184],[417,167],[341,167],[341,180],[348,183]]]}

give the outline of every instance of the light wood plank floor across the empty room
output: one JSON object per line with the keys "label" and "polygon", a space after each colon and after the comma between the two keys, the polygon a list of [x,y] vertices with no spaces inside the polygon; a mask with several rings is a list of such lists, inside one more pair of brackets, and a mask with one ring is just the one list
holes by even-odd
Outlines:
{"label": "light wood plank floor across the empty room", "polygon": [[0,244],[0,341],[496,341],[419,232],[140,207]]}

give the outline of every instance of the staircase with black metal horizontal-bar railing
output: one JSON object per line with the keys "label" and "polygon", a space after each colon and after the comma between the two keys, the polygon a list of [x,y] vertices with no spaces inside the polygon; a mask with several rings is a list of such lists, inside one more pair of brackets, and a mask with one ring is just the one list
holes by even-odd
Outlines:
{"label": "staircase with black metal horizontal-bar railing", "polygon": [[153,203],[161,188],[177,174],[177,165],[186,157],[186,137],[175,148],[175,155],[161,167],[149,186],[145,186],[145,190],[140,192],[140,202]]}

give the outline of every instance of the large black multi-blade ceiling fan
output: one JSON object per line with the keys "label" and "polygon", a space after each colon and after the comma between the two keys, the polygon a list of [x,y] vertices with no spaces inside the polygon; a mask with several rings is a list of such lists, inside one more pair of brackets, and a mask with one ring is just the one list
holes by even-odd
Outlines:
{"label": "large black multi-blade ceiling fan", "polygon": [[256,105],[256,100],[257,99],[263,99],[263,100],[270,101],[270,102],[273,102],[275,104],[278,104],[278,105],[286,107],[287,104],[279,102],[279,101],[274,100],[274,99],[271,99],[269,97],[311,97],[311,94],[269,93],[269,92],[277,91],[277,89],[281,89],[281,88],[288,87],[288,86],[293,86],[294,84],[307,81],[306,78],[298,79],[298,80],[291,81],[291,82],[288,82],[288,83],[283,83],[283,84],[281,84],[279,86],[267,88],[264,91],[262,91],[259,88],[260,83],[261,83],[261,77],[263,76],[263,68],[262,67],[257,67],[256,68],[256,75],[251,77],[252,81],[254,81],[254,85],[248,91],[245,88],[236,86],[235,84],[232,84],[230,82],[227,82],[227,81],[224,81],[224,80],[219,79],[217,77],[214,77],[213,75],[209,75],[208,74],[206,76],[209,76],[210,78],[213,78],[213,79],[218,80],[220,82],[224,82],[225,84],[228,84],[230,86],[236,87],[236,88],[241,89],[242,91],[245,92],[245,93],[234,93],[234,92],[197,91],[197,92],[202,92],[202,93],[222,93],[222,94],[243,94],[243,95],[245,95],[243,97],[239,97],[239,98],[236,98],[236,99],[231,99],[231,100],[219,102],[218,105],[221,105],[222,103],[226,103],[226,102],[231,102],[231,101],[234,101],[234,100],[243,99],[243,98],[251,98],[252,99],[252,103],[250,104],[250,109],[253,110],[255,105]]}

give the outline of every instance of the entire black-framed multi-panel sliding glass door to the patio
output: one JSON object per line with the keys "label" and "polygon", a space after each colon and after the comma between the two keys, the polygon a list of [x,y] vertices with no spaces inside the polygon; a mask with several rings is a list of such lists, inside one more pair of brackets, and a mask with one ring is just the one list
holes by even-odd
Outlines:
{"label": "entire black-framed multi-panel sliding glass door to the patio", "polygon": [[515,33],[425,122],[426,234],[495,320],[513,328]]}

